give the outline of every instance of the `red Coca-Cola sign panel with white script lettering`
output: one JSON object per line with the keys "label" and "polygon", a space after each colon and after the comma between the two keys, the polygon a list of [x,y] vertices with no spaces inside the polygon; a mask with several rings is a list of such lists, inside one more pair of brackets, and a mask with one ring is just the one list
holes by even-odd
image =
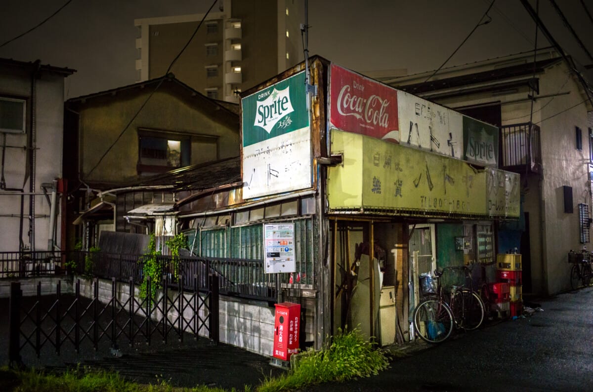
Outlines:
{"label": "red Coca-Cola sign panel with white script lettering", "polygon": [[337,65],[330,72],[331,125],[399,143],[397,90]]}

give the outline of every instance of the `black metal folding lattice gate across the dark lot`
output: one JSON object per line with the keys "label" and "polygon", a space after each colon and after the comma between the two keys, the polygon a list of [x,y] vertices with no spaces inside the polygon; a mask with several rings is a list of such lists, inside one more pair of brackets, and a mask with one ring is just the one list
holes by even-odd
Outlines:
{"label": "black metal folding lattice gate across the dark lot", "polygon": [[200,293],[199,277],[194,276],[192,294],[184,294],[184,279],[179,279],[179,290],[172,290],[167,279],[162,281],[162,295],[152,299],[149,295],[150,279],[146,295],[135,292],[135,282],[130,279],[123,295],[118,291],[122,283],[111,280],[109,298],[99,298],[99,282],[93,282],[93,298],[81,296],[80,280],[75,284],[74,300],[61,293],[60,281],[55,300],[42,306],[41,282],[37,283],[36,301],[30,309],[21,305],[20,282],[11,282],[9,304],[9,349],[11,365],[20,365],[21,351],[32,348],[39,358],[44,347],[50,347],[59,355],[66,345],[74,346],[76,352],[83,344],[90,343],[95,350],[103,342],[111,348],[122,344],[151,343],[159,338],[176,338],[183,342],[184,335],[197,339],[199,332],[215,343],[219,341],[218,279],[210,277],[208,291]]}

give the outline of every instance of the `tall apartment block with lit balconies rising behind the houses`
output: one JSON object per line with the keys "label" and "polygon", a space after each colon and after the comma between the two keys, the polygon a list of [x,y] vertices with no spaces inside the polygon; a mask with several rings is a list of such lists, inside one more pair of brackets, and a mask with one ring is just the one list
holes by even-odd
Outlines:
{"label": "tall apartment block with lit balconies rising behind the houses", "polygon": [[[137,81],[164,75],[203,18],[135,20]],[[301,23],[302,2],[221,0],[169,72],[209,98],[238,102],[241,91],[302,61]]]}

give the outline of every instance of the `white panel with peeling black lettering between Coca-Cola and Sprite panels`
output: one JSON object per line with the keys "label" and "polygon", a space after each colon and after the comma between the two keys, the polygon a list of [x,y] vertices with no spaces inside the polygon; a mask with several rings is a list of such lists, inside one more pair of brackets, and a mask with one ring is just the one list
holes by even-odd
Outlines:
{"label": "white panel with peeling black lettering between Coca-Cola and Sprite panels", "polygon": [[397,103],[401,144],[461,159],[461,113],[405,91],[397,92]]}

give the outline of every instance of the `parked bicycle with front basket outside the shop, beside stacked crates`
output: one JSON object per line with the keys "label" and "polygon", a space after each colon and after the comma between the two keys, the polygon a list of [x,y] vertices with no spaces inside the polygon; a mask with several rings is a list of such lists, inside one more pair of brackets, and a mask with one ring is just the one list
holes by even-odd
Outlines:
{"label": "parked bicycle with front basket outside the shop, beside stacked crates", "polygon": [[[446,267],[435,271],[435,277],[423,277],[423,294],[427,297],[414,310],[414,330],[420,338],[429,343],[443,342],[449,338],[453,326],[457,329],[477,329],[484,320],[484,303],[480,295],[465,285],[452,285],[444,290],[441,278],[445,271],[463,271],[464,277],[470,274],[467,267]],[[436,282],[436,289],[429,284]]]}

